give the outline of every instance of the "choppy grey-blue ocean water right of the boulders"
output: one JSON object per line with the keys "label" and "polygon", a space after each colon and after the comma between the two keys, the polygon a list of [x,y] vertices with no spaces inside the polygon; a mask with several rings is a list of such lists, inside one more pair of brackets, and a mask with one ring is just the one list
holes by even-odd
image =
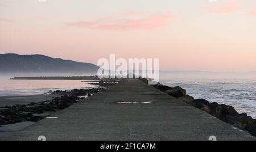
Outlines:
{"label": "choppy grey-blue ocean water right of the boulders", "polygon": [[163,78],[167,86],[180,86],[196,99],[232,105],[256,119],[256,78]]}

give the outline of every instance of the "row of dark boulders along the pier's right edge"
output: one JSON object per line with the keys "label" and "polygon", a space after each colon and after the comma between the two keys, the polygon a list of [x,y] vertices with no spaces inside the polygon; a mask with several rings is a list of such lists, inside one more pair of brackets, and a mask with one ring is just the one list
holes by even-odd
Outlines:
{"label": "row of dark boulders along the pier's right edge", "polygon": [[[141,79],[141,81],[148,83],[147,79]],[[210,103],[205,99],[195,99],[192,96],[187,95],[186,90],[179,86],[169,87],[160,83],[152,86],[192,105],[193,107],[199,108],[228,124],[232,124],[236,128],[246,130],[251,135],[256,136],[256,120],[247,116],[246,113],[238,113],[236,109],[230,105],[218,104],[216,102]]]}

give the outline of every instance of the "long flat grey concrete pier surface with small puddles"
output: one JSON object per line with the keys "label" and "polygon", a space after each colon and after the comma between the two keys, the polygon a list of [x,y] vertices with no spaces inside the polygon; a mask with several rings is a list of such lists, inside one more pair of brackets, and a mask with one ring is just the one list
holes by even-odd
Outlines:
{"label": "long flat grey concrete pier surface with small puddles", "polygon": [[122,81],[52,117],[0,140],[255,140],[138,79]]}

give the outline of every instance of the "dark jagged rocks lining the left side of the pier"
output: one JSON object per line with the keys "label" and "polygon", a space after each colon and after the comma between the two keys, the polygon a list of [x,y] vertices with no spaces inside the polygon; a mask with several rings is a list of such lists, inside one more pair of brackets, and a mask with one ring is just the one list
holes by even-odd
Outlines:
{"label": "dark jagged rocks lining the left side of the pier", "polygon": [[[101,86],[111,86],[116,83],[98,82]],[[88,99],[90,96],[97,94],[105,89],[102,87],[88,89],[74,89],[71,91],[49,91],[50,94],[58,95],[59,97],[52,98],[43,102],[34,102],[27,105],[14,105],[0,108],[0,127],[1,125],[21,123],[25,121],[37,122],[42,120],[52,113],[68,108],[72,104]]]}

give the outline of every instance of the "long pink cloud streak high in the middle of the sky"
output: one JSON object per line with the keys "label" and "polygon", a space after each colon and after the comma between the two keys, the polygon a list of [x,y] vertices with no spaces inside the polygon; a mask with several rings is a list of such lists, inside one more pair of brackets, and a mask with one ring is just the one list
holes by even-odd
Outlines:
{"label": "long pink cloud streak high in the middle of the sky", "polygon": [[[133,14],[135,15],[135,14]],[[90,22],[77,22],[68,24],[80,28],[103,29],[103,30],[133,30],[133,29],[153,29],[165,27],[176,18],[174,14],[157,14],[144,18],[101,18]]]}

